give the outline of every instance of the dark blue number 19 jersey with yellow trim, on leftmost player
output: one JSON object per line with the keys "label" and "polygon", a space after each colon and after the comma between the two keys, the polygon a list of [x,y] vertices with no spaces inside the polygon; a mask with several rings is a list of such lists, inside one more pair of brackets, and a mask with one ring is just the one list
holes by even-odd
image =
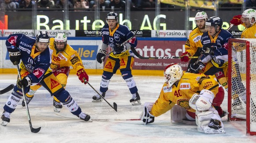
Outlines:
{"label": "dark blue number 19 jersey with yellow trim, on leftmost player", "polygon": [[38,52],[36,49],[36,39],[28,37],[24,34],[9,35],[6,40],[8,52],[15,52],[17,49],[21,52],[21,68],[26,69],[30,73],[32,85],[37,84],[47,73],[51,65],[51,53],[47,48],[44,52]]}

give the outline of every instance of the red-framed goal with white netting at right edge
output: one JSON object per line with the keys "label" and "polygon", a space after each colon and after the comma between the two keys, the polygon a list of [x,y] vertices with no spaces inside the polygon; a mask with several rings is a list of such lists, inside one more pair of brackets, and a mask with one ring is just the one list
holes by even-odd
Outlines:
{"label": "red-framed goal with white netting at right edge", "polygon": [[247,134],[256,135],[256,39],[229,39],[228,112],[229,120],[246,120]]}

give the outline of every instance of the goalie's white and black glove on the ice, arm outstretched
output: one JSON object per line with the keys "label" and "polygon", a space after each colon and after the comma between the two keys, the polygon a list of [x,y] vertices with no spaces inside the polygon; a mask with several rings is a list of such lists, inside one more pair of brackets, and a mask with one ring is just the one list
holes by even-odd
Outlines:
{"label": "goalie's white and black glove on the ice, arm outstretched", "polygon": [[143,107],[143,111],[139,117],[141,121],[143,121],[146,124],[154,122],[155,117],[150,114],[150,111],[153,107],[154,103],[146,102]]}

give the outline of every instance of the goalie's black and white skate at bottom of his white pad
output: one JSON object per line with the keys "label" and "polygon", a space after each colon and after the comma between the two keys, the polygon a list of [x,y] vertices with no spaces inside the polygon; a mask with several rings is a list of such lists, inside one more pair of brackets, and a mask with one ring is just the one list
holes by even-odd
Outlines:
{"label": "goalie's black and white skate at bottom of his white pad", "polygon": [[226,133],[222,126],[219,125],[214,119],[211,119],[211,122],[208,124],[207,127],[204,128],[204,132],[206,134],[219,134],[219,133]]}

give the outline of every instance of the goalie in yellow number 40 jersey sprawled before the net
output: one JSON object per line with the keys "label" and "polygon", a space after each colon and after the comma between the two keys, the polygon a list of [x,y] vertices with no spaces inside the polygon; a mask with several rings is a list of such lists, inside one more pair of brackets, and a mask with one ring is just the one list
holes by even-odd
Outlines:
{"label": "goalie in yellow number 40 jersey sprawled before the net", "polygon": [[221,117],[215,105],[223,101],[217,94],[219,83],[213,76],[205,74],[183,73],[181,66],[172,63],[165,68],[165,84],[155,103],[146,102],[140,119],[149,124],[154,118],[171,110],[176,104],[185,108],[189,120],[195,113],[197,130],[203,133],[225,133]]}

